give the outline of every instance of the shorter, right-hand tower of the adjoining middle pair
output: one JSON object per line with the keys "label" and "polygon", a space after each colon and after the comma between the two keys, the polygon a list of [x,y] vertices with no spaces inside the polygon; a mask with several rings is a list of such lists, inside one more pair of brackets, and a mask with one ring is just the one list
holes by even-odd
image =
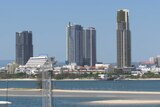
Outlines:
{"label": "shorter, right-hand tower of the adjoining middle pair", "polygon": [[84,65],[96,64],[96,29],[89,27],[83,30]]}

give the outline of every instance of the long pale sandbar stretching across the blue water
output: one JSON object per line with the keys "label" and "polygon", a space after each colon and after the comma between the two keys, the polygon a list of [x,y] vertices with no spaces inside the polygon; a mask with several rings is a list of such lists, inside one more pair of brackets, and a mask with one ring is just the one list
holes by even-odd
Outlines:
{"label": "long pale sandbar stretching across the blue water", "polygon": [[[42,97],[41,89],[0,89],[0,96],[6,91],[10,97]],[[70,98],[97,98],[98,100],[82,102],[90,105],[133,105],[133,104],[160,104],[160,92],[138,91],[97,91],[97,90],[61,90],[54,89],[53,97]],[[102,100],[103,98],[103,100]]]}

